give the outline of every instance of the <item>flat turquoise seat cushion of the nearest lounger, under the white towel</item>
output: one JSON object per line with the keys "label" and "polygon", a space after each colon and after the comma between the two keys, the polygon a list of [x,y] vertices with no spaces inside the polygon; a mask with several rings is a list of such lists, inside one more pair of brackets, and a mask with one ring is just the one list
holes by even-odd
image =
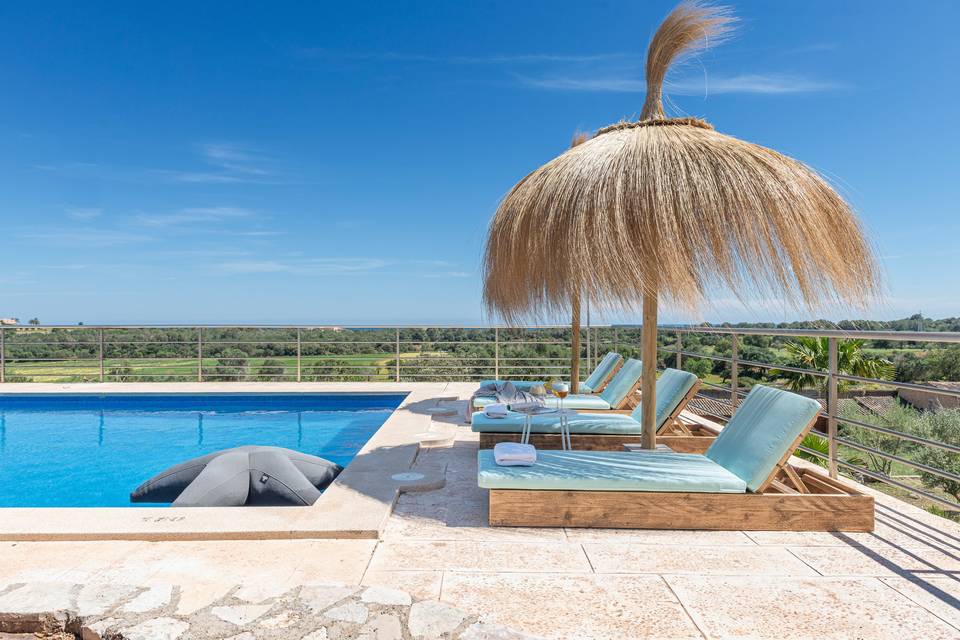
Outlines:
{"label": "flat turquoise seat cushion of the nearest lounger, under the white towel", "polygon": [[744,493],[746,484],[693,453],[537,451],[530,467],[501,467],[492,449],[477,454],[484,489]]}

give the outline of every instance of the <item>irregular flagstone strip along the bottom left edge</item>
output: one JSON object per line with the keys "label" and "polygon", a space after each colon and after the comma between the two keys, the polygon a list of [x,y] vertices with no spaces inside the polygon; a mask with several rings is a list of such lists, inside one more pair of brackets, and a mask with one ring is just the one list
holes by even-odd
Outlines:
{"label": "irregular flagstone strip along the bottom left edge", "polygon": [[[82,640],[520,640],[505,626],[478,623],[478,616],[436,600],[378,588],[328,583],[296,588],[262,604],[235,597],[235,589],[189,614],[178,613],[183,590],[150,613],[129,606],[139,587],[98,589],[98,609],[82,614],[78,603],[88,585],[30,583],[0,593],[3,634],[57,634]],[[92,611],[92,610],[91,610]],[[53,637],[53,635],[44,635]]]}

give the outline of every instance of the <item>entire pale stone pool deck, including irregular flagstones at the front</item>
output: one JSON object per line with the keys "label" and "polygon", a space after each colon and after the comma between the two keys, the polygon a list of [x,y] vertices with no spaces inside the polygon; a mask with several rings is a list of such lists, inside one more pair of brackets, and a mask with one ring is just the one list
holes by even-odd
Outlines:
{"label": "entire pale stone pool deck, including irregular flagstones at the front", "polygon": [[[136,624],[123,627],[130,638],[960,637],[960,526],[884,494],[874,493],[873,533],[487,527],[476,438],[462,413],[430,410],[462,409],[455,398],[474,386],[424,387],[430,397],[404,409],[404,437],[441,434],[411,461],[442,476],[442,487],[400,493],[394,504],[359,490],[392,463],[357,471],[362,482],[347,487],[364,496],[357,507],[389,503],[374,537],[0,542],[0,612],[127,620],[139,600]],[[365,591],[338,585],[442,606],[364,602]],[[305,604],[337,588],[351,592],[326,607]],[[297,622],[264,624],[278,617]],[[382,631],[371,626],[381,618]],[[166,631],[132,631],[155,619]]]}

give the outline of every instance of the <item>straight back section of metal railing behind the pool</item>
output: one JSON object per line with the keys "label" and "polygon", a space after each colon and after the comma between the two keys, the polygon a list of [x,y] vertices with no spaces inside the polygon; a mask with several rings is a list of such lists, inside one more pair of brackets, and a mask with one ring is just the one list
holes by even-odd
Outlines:
{"label": "straight back section of metal railing behind the pool", "polygon": [[566,377],[571,342],[553,325],[3,326],[0,382],[550,379]]}

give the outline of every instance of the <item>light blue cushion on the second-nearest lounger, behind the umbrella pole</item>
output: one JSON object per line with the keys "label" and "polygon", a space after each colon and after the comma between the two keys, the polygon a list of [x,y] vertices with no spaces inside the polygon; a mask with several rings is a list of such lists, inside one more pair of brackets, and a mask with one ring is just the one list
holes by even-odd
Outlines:
{"label": "light blue cushion on the second-nearest lounger, behind the umbrella pole", "polygon": [[[677,408],[690,389],[697,382],[697,376],[678,369],[665,369],[657,380],[657,429]],[[566,405],[565,405],[566,406]],[[589,433],[595,435],[638,435],[640,428],[640,406],[629,416],[619,413],[598,415],[583,413],[570,417],[570,433]],[[523,431],[523,414],[512,413],[506,418],[488,418],[478,411],[471,420],[472,429],[478,433],[520,433]],[[556,414],[534,416],[531,420],[532,433],[560,433],[560,418]]]}

